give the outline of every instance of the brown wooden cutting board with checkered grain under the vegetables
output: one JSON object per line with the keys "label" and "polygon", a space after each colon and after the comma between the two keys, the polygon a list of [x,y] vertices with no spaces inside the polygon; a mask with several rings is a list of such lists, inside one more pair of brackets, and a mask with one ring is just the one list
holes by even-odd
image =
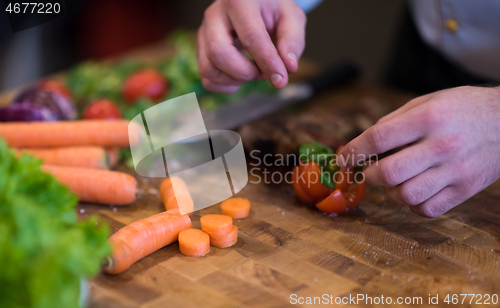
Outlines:
{"label": "brown wooden cutting board with checkered grain under the vegetables", "polygon": [[[354,83],[312,100],[299,114],[316,108],[359,110],[366,100],[394,109],[409,98]],[[80,204],[79,215],[97,213],[115,232],[164,210],[160,180],[138,180],[134,204]],[[481,294],[474,302],[484,303],[485,294],[500,292],[498,182],[436,219],[413,214],[373,187],[355,210],[330,217],[301,203],[291,185],[255,182],[251,177],[238,193],[252,209],[249,217],[234,221],[235,246],[212,247],[205,257],[189,258],[174,243],[120,275],[101,273],[90,282],[89,307],[287,307],[300,306],[293,304],[299,297],[306,301],[324,294],[384,296],[394,302],[415,297],[424,306],[429,295],[438,295],[436,306],[450,307],[444,302],[448,294],[450,300],[453,294]],[[200,216],[209,213],[220,213],[220,206],[194,213],[193,226],[199,228]]]}

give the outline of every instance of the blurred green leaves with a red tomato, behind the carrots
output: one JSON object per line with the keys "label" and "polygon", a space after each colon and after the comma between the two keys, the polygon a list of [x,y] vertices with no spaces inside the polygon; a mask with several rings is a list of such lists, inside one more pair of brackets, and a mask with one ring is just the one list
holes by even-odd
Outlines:
{"label": "blurred green leaves with a red tomato, behind the carrots", "polygon": [[64,83],[81,111],[94,100],[106,99],[129,120],[155,103],[191,92],[196,92],[202,109],[210,110],[249,92],[274,89],[268,81],[257,80],[232,95],[209,92],[201,84],[195,36],[188,31],[174,31],[167,45],[172,47],[172,55],[153,63],[134,59],[113,64],[84,62],[69,71]]}

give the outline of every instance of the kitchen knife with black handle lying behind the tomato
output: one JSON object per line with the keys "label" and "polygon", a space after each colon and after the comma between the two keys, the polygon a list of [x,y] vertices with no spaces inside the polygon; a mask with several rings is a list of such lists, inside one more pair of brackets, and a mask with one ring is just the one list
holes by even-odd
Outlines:
{"label": "kitchen knife with black handle lying behind the tomato", "polygon": [[207,130],[233,130],[241,125],[274,113],[286,106],[301,102],[325,89],[339,85],[357,76],[359,68],[353,63],[342,63],[306,81],[289,84],[272,94],[252,93],[245,98],[213,112],[204,112]]}

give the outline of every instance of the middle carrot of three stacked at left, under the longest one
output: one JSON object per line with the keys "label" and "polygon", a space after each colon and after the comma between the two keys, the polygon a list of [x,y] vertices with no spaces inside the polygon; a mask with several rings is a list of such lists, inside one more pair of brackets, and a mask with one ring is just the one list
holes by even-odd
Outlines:
{"label": "middle carrot of three stacked at left, under the longest one", "polygon": [[29,148],[16,150],[17,155],[26,153],[52,166],[72,166],[108,169],[108,153],[101,147]]}

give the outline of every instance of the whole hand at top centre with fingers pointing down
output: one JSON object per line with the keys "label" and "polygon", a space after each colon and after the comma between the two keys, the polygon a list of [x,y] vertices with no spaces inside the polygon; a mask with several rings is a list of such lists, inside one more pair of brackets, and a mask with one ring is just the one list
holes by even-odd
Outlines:
{"label": "whole hand at top centre with fingers pointing down", "polygon": [[265,78],[275,88],[284,87],[304,50],[305,23],[306,15],[293,0],[215,1],[198,30],[203,86],[233,93],[245,82]]}

